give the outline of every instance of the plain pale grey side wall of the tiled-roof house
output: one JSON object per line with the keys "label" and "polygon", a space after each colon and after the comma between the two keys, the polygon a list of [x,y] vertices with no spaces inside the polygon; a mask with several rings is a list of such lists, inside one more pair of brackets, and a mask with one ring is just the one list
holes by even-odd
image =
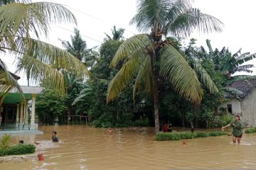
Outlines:
{"label": "plain pale grey side wall of the tiled-roof house", "polygon": [[247,126],[256,126],[256,89],[252,90],[241,102],[242,120]]}

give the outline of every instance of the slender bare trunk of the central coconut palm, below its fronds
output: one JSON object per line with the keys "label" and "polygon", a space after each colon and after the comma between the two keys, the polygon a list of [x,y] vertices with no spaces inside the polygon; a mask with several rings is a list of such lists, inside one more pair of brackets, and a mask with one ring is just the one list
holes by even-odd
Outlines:
{"label": "slender bare trunk of the central coconut palm, below its fronds", "polygon": [[159,132],[159,95],[158,95],[158,77],[154,77],[154,115],[155,115],[155,132]]}

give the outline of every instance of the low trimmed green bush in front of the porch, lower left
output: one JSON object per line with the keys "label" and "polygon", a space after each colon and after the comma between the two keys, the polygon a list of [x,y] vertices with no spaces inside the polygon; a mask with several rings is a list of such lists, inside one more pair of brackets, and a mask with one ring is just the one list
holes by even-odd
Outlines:
{"label": "low trimmed green bush in front of the porch, lower left", "polygon": [[34,145],[15,145],[13,147],[0,148],[0,156],[5,155],[16,155],[16,154],[32,154],[36,151],[36,147]]}

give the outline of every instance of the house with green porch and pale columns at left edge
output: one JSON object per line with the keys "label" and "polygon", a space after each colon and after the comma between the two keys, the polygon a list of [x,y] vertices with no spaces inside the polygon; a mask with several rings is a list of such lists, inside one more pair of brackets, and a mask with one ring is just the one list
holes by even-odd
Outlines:
{"label": "house with green porch and pale columns at left edge", "polygon": [[[43,93],[39,86],[21,86],[23,94],[16,88],[4,98],[1,106],[1,127],[18,130],[34,130],[36,96]],[[31,101],[31,114],[28,114],[28,101]]]}

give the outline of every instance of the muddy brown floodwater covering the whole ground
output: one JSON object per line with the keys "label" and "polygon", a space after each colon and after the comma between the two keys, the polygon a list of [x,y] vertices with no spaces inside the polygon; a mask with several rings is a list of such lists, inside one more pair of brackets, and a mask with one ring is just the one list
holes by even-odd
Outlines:
{"label": "muddy brown floodwater covering the whole ground", "polygon": [[[154,128],[116,128],[111,135],[85,125],[39,130],[44,135],[12,135],[13,143],[41,144],[28,159],[0,163],[0,169],[256,169],[256,135],[244,134],[242,143],[233,145],[230,136],[157,142]],[[53,130],[59,143],[50,141]],[[39,162],[37,154],[45,161]]]}

